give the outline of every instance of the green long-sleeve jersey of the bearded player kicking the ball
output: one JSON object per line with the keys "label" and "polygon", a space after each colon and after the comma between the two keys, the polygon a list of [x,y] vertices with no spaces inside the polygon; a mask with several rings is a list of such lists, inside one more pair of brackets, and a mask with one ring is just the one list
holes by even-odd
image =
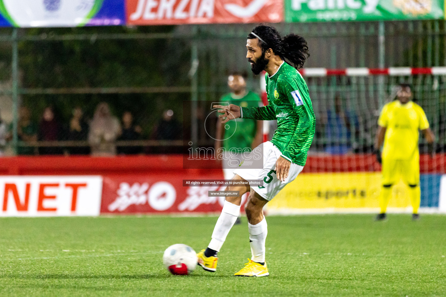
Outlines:
{"label": "green long-sleeve jersey of the bearded player kicking the ball", "polygon": [[315,117],[308,87],[301,74],[283,62],[272,76],[265,75],[268,105],[241,107],[242,118],[277,119],[277,130],[271,142],[282,157],[304,166],[313,141]]}

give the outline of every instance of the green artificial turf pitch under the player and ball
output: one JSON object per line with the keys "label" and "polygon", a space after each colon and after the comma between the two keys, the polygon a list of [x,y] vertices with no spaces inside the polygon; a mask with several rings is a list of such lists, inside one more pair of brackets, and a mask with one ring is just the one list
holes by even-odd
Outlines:
{"label": "green artificial turf pitch under the player and ball", "polygon": [[217,272],[170,275],[169,245],[205,248],[216,217],[0,218],[0,296],[446,296],[446,216],[269,216],[269,277],[233,277],[251,256],[246,218]]}

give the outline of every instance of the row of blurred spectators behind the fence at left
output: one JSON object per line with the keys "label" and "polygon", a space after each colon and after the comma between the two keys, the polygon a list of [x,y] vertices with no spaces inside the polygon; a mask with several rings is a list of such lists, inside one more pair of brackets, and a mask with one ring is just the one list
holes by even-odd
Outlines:
{"label": "row of blurred spectators behind the fence at left", "polygon": [[[12,129],[12,123],[7,124],[0,117],[0,155],[4,155],[12,140]],[[27,106],[21,106],[17,136],[21,142],[17,155],[136,155],[152,152],[138,143],[140,140],[181,139],[181,125],[172,110],[165,110],[152,133],[145,136],[130,111],[118,118],[106,102],[98,104],[91,119],[84,116],[81,106],[75,107],[69,122],[61,120],[54,106],[45,107],[40,122],[33,121]],[[60,141],[65,141],[65,145],[58,144]]]}

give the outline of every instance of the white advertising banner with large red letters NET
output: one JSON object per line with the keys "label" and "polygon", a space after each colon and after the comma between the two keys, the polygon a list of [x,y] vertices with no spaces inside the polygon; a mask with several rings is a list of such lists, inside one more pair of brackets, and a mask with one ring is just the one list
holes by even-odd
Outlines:
{"label": "white advertising banner with large red letters NET", "polygon": [[98,216],[102,177],[0,176],[0,216]]}

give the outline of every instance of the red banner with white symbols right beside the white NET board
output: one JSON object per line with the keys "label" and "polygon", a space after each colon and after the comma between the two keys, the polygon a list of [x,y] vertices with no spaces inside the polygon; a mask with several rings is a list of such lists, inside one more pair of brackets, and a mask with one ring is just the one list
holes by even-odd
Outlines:
{"label": "red banner with white symbols right beside the white NET board", "polygon": [[[187,179],[222,179],[222,175],[187,176]],[[184,187],[178,175],[104,176],[101,214],[221,212],[224,197],[209,191],[224,186]],[[242,210],[247,194],[242,199]]]}

